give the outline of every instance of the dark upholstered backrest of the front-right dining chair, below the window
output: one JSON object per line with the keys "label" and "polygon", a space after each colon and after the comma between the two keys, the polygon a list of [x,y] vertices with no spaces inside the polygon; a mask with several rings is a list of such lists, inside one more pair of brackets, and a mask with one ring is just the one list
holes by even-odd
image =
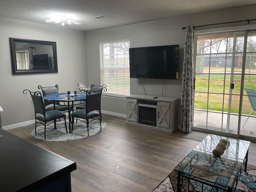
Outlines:
{"label": "dark upholstered backrest of the front-right dining chair, below the window", "polygon": [[86,114],[93,110],[100,111],[101,92],[86,91]]}

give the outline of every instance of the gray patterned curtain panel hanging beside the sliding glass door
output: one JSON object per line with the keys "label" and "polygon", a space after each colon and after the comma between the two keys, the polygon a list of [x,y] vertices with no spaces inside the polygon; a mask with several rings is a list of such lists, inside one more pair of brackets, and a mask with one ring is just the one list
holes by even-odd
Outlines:
{"label": "gray patterned curtain panel hanging beside the sliding glass door", "polygon": [[182,92],[181,92],[181,114],[180,131],[191,132],[193,129],[193,107],[194,107],[194,69],[193,69],[193,37],[194,30],[192,25],[186,29]]}

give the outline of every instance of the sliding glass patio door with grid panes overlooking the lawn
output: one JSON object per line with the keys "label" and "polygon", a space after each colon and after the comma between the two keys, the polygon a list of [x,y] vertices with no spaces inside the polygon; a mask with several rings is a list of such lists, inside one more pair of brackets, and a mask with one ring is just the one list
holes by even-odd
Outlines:
{"label": "sliding glass patio door with grid panes overlooking the lawn", "polygon": [[256,123],[244,89],[256,89],[254,38],[246,30],[195,36],[194,129],[239,136],[249,115],[246,124]]}

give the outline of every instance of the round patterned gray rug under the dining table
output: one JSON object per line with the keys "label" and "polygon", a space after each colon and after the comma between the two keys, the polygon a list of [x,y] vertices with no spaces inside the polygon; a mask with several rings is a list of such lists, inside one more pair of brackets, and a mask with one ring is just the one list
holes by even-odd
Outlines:
{"label": "round patterned gray rug under the dining table", "polygon": [[[67,129],[68,129],[68,120],[67,122]],[[72,126],[72,125],[71,125]],[[78,140],[88,137],[87,134],[87,127],[86,123],[82,121],[75,120],[73,125],[73,132],[67,133],[65,129],[65,122],[64,121],[57,121],[56,128],[54,129],[54,123],[46,126],[46,139],[44,139],[44,126],[38,126],[35,130],[31,132],[31,135],[39,140],[43,141],[71,141],[71,140]],[[104,131],[107,128],[107,124],[102,121],[101,122],[101,130]],[[69,132],[69,129],[68,129]],[[93,120],[89,123],[89,137],[94,136],[100,132],[100,120]]]}

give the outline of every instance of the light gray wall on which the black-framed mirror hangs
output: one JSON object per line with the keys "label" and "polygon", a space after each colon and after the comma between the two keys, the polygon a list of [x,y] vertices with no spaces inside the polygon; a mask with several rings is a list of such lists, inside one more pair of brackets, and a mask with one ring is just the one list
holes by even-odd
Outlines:
{"label": "light gray wall on which the black-framed mirror hangs", "polygon": [[[78,91],[78,82],[87,84],[84,32],[9,19],[0,19],[0,26],[0,106],[5,129],[34,120],[32,100],[22,93],[24,89],[36,91],[38,85],[58,84],[60,92],[66,92]],[[10,37],[56,42],[58,73],[12,74]]]}

